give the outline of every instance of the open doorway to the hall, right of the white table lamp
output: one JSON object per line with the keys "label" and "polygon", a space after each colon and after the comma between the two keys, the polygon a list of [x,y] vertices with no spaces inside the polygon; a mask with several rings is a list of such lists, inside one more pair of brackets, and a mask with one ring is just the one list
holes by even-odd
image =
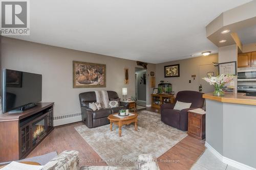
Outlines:
{"label": "open doorway to the hall, right of the white table lamp", "polygon": [[146,69],[135,67],[135,96],[137,109],[146,106]]}

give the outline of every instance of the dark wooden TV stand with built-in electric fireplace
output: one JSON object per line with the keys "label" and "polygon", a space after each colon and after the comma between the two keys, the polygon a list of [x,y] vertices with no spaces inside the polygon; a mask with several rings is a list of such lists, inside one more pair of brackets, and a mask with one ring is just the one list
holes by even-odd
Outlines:
{"label": "dark wooden TV stand with built-in electric fireplace", "polygon": [[53,130],[53,105],[0,114],[0,162],[25,158]]}

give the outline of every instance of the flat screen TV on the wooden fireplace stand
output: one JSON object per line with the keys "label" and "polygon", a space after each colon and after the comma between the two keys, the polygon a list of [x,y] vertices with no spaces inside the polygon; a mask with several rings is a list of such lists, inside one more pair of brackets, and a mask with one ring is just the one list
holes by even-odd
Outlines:
{"label": "flat screen TV on the wooden fireplace stand", "polygon": [[3,112],[34,105],[42,98],[42,75],[4,69]]}

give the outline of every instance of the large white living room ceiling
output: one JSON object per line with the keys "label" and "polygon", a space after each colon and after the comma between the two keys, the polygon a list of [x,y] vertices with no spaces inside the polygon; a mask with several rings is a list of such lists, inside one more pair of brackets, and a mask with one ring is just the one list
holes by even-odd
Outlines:
{"label": "large white living room ceiling", "polygon": [[30,1],[30,36],[14,38],[161,63],[196,57],[203,51],[217,53],[217,46],[206,38],[205,26],[222,12],[247,2]]}

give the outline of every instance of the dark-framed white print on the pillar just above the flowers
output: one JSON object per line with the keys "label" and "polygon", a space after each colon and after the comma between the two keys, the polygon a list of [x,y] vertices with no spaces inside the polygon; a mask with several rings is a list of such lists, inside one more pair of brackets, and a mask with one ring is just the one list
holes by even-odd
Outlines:
{"label": "dark-framed white print on the pillar just above the flowers", "polygon": [[237,62],[219,63],[219,74],[237,75]]}

